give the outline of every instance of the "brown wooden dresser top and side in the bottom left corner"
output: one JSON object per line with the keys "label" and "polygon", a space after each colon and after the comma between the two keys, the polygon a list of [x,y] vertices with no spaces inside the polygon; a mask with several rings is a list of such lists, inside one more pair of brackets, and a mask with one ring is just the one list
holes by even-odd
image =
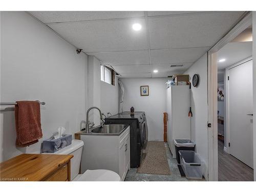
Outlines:
{"label": "brown wooden dresser top and side in the bottom left corner", "polygon": [[72,157],[22,154],[0,164],[0,181],[70,181]]}

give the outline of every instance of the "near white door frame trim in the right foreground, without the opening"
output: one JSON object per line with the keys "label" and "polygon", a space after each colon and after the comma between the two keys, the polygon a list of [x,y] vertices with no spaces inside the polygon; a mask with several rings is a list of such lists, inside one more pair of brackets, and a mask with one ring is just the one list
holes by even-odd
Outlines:
{"label": "near white door frame trim in the right foreground, without the opening", "polygon": [[[224,47],[234,37],[252,25],[252,12],[245,12],[222,39],[208,53],[208,180],[218,181],[218,65],[217,51]],[[209,124],[208,124],[209,125]]]}

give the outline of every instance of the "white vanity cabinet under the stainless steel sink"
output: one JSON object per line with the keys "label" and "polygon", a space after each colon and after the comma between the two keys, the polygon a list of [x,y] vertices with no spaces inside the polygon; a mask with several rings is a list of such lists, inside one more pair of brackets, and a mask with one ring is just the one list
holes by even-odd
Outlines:
{"label": "white vanity cabinet under the stainless steel sink", "polygon": [[84,142],[81,174],[87,169],[109,169],[123,181],[130,169],[130,126],[120,135],[79,134],[76,138]]}

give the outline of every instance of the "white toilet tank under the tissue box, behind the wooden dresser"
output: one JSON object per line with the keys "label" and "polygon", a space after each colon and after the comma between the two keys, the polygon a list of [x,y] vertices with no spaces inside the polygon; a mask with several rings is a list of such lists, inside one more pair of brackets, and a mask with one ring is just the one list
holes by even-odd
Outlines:
{"label": "white toilet tank under the tissue box, behind the wooden dresser", "polygon": [[42,153],[42,154],[58,154],[58,155],[73,155],[71,159],[71,181],[78,175],[81,156],[82,156],[83,141],[74,139],[71,144],[62,148],[55,153]]}

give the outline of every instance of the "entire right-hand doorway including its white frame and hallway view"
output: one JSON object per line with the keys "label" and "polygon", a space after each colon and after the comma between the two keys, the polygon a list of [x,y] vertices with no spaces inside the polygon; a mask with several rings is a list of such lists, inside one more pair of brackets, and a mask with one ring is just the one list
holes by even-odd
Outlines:
{"label": "entire right-hand doorway including its white frame and hallway view", "polygon": [[251,15],[208,52],[210,181],[253,181]]}

